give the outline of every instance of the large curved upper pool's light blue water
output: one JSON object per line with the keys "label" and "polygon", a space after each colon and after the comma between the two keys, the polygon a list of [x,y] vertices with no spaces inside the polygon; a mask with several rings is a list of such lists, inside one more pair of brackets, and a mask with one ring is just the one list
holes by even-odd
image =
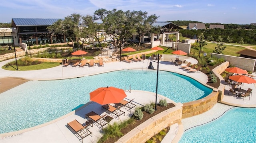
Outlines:
{"label": "large curved upper pool's light blue water", "polygon": [[[156,92],[155,70],[122,70],[65,80],[29,81],[1,93],[0,133],[34,127],[68,114],[90,100],[99,87],[114,86]],[[159,71],[158,94],[190,102],[212,89],[180,74]]]}

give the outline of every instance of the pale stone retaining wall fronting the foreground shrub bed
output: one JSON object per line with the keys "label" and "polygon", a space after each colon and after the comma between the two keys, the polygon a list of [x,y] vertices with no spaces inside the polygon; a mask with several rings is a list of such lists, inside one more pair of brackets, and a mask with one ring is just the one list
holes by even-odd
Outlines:
{"label": "pale stone retaining wall fronting the foreground shrub bed", "polygon": [[152,136],[159,133],[162,129],[181,121],[182,104],[178,103],[175,107],[157,114],[148,119],[129,133],[118,139],[116,143],[145,143]]}

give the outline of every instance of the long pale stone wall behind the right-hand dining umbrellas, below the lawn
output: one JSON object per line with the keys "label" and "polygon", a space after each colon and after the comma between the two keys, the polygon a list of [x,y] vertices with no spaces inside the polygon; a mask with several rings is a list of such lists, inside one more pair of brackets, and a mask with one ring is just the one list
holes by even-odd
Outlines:
{"label": "long pale stone wall behind the right-hand dining umbrellas, below the lawn", "polygon": [[256,64],[256,59],[229,56],[212,53],[212,57],[223,58],[225,61],[229,61],[230,65],[239,67],[240,69],[245,69],[246,71],[254,72],[254,66]]}

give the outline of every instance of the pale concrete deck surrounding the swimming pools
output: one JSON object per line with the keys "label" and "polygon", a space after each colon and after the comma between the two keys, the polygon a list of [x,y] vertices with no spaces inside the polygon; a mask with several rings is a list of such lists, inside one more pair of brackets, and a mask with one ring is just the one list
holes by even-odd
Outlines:
{"label": "pale concrete deck surrounding the swimming pools", "polygon": [[[192,64],[196,64],[197,61],[195,59],[181,56],[186,61],[191,62]],[[183,59],[183,60],[184,60]],[[0,66],[2,67],[6,63],[13,61],[7,60],[0,62]],[[98,67],[95,65],[94,67],[62,67],[62,65],[50,69],[43,69],[43,70],[35,70],[35,71],[6,71],[3,69],[0,69],[0,77],[1,77],[1,84],[0,87],[5,88],[5,86],[8,86],[5,90],[11,89],[10,86],[17,86],[17,85],[8,85],[10,84],[10,79],[16,79],[21,80],[19,81],[19,84],[22,84],[22,82],[25,82],[25,80],[55,80],[55,79],[64,79],[64,78],[76,78],[81,76],[88,76],[92,74],[99,74],[103,72],[110,72],[110,71],[116,71],[116,70],[125,70],[125,69],[143,69],[143,70],[150,70],[147,69],[149,65],[150,60],[146,59],[142,62],[133,62],[133,63],[126,63],[124,61],[116,61],[116,62],[110,62],[110,63],[104,63],[104,67]],[[154,70],[157,68],[157,63],[152,62],[154,66]],[[164,71],[172,71],[177,72],[180,74],[184,74],[186,76],[190,76],[202,83],[206,83],[208,81],[208,78],[205,74],[202,72],[192,72],[188,73],[186,71],[183,71],[182,69],[179,69],[177,66],[172,65],[169,61],[160,61],[159,62],[159,69]],[[253,73],[256,75],[255,73]],[[15,79],[13,80],[15,82]],[[170,79],[171,80],[171,79]],[[143,82],[143,81],[142,81]],[[235,98],[233,96],[228,95],[229,86],[225,85],[225,83],[222,83],[225,86],[225,92],[224,92],[224,98],[223,101],[228,104],[232,104],[233,106],[251,106],[256,107],[256,87],[255,84],[244,84],[243,89],[248,89],[249,87],[252,88],[252,97],[249,98],[246,97],[244,100],[243,98]],[[1,91],[2,92],[2,91]],[[143,92],[143,94],[142,94]],[[138,90],[132,90],[132,92],[126,92],[127,99],[134,99],[135,103],[138,105],[144,105],[150,101],[155,100],[155,93],[152,92],[145,92],[145,91],[138,91]],[[138,96],[143,95],[143,96]],[[146,97],[146,98],[145,98]],[[147,99],[147,100],[145,100]],[[80,123],[84,123],[87,119],[84,118],[84,114],[88,113],[88,111],[92,111],[92,109],[95,111],[95,106],[99,106],[99,104],[96,104],[94,102],[89,102],[79,110],[70,112],[69,114],[58,118],[54,121],[50,121],[48,123],[38,125],[33,128],[25,129],[22,131],[17,131],[12,134],[5,134],[4,136],[1,136],[0,142],[1,143],[81,143],[79,139],[72,133],[70,128],[66,127],[66,124],[74,119],[77,119]],[[211,110],[200,114],[198,116],[193,116],[190,118],[182,119],[182,127],[184,130],[194,127],[195,125],[200,125],[202,123],[208,122],[214,118],[218,118],[218,116],[222,115],[226,110],[229,108],[232,108],[232,106],[227,106],[224,104],[217,103]],[[120,120],[127,119],[131,116],[130,112],[126,110],[125,116],[120,116]],[[98,114],[104,114],[104,110],[96,110]],[[207,118],[205,118],[207,116]],[[113,119],[112,121],[118,121],[117,119]],[[163,139],[162,143],[170,143],[172,139],[176,135],[176,130],[179,127],[179,125],[173,125],[169,131],[169,133],[166,135],[166,137]],[[180,128],[181,129],[181,128]],[[84,143],[94,143],[96,142],[101,136],[101,130],[94,125],[93,127],[90,127],[90,131],[93,132],[93,136],[87,136],[83,139]],[[1,134],[2,135],[2,134]]]}

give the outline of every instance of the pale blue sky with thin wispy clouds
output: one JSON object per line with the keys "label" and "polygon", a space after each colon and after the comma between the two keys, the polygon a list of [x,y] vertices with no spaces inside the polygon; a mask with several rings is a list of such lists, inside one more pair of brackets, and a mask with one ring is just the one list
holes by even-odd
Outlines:
{"label": "pale blue sky with thin wispy clouds", "polygon": [[191,20],[203,23],[256,23],[256,0],[0,0],[0,22],[12,18],[65,18],[106,10],[156,14],[158,22]]}

